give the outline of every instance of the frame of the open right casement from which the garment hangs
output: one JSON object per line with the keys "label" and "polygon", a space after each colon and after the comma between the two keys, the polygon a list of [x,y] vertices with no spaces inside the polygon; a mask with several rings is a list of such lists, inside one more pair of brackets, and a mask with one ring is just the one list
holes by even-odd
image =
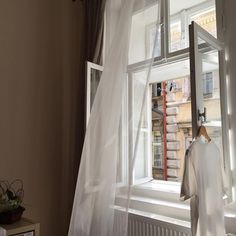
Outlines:
{"label": "frame of the open right casement from which the garment hangs", "polygon": [[[206,58],[202,56],[202,53],[199,51],[199,38],[204,40],[208,45],[211,46],[214,50],[218,51],[218,58],[217,63],[219,63],[219,76],[220,76],[220,103],[221,103],[221,122],[222,122],[222,144],[223,144],[223,155],[224,155],[224,164],[225,164],[225,173],[227,176],[227,182],[228,182],[228,200],[229,202],[232,200],[232,188],[231,188],[231,179],[232,179],[232,163],[230,163],[230,160],[232,160],[232,153],[230,153],[230,122],[229,122],[229,114],[228,114],[228,96],[227,93],[229,91],[229,87],[227,87],[227,77],[226,77],[226,64],[225,64],[225,50],[224,45],[219,40],[217,40],[215,37],[213,37],[211,34],[209,34],[207,31],[205,31],[202,27],[200,27],[195,22],[192,22],[191,24],[192,32],[190,31],[190,58],[191,58],[191,83],[192,88],[195,87],[195,95],[196,97],[192,97],[192,107],[193,107],[193,101],[196,101],[196,109],[195,112],[193,112],[193,135],[195,136],[196,132],[196,126],[197,124],[194,122],[194,117],[196,120],[198,120],[198,114],[197,110],[199,109],[200,112],[204,111],[204,98],[203,98],[203,91],[202,91],[202,61],[204,61]],[[208,58],[209,59],[209,58]],[[214,58],[211,58],[211,61],[214,61]],[[193,85],[195,83],[195,85]],[[192,93],[194,95],[194,93]],[[198,121],[198,125],[200,124],[200,121]],[[207,125],[207,124],[206,124]],[[194,129],[195,128],[195,129]]]}

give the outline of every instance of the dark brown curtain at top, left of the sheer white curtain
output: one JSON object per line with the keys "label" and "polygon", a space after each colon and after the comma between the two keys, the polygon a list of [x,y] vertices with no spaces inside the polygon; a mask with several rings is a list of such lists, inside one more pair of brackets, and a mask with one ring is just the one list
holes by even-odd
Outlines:
{"label": "dark brown curtain at top, left of the sheer white curtain", "polygon": [[84,0],[86,9],[86,60],[102,64],[106,0]]}

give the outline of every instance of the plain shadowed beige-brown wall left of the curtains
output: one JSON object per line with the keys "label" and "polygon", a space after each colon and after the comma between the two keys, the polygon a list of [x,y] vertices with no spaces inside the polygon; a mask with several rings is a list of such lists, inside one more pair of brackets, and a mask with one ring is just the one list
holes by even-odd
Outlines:
{"label": "plain shadowed beige-brown wall left of the curtains", "polygon": [[82,10],[81,1],[0,0],[0,179],[24,181],[24,215],[42,236],[66,235],[70,217],[83,138]]}

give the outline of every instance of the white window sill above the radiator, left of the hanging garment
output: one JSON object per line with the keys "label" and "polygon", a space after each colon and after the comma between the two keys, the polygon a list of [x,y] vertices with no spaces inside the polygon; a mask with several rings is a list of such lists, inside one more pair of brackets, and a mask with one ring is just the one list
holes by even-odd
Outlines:
{"label": "white window sill above the radiator, left of the hanging garment", "polygon": [[[180,184],[166,181],[149,181],[147,183],[132,187],[130,198],[130,209],[145,212],[151,216],[163,216],[172,221],[189,222],[190,207],[189,202],[180,201]],[[117,197],[119,206],[127,203],[125,192]]]}

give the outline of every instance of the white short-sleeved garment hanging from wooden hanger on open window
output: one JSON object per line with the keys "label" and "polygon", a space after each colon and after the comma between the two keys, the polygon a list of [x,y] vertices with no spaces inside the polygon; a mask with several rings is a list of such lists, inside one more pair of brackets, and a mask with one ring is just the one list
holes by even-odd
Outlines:
{"label": "white short-sleeved garment hanging from wooden hanger on open window", "polygon": [[185,156],[181,198],[191,198],[192,236],[223,236],[223,165],[213,142],[197,138]]}

